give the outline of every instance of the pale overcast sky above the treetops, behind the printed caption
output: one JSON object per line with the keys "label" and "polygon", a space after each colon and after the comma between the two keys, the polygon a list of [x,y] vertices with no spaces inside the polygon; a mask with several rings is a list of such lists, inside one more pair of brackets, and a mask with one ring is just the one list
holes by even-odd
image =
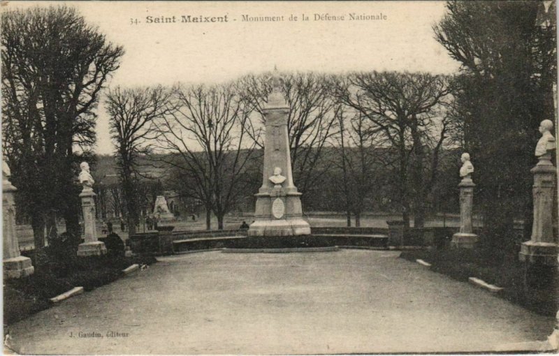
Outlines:
{"label": "pale overcast sky above the treetops, behind the printed caption", "polygon": [[[270,71],[428,71],[454,73],[458,63],[433,38],[444,1],[370,2],[180,2],[180,1],[10,1],[8,8],[75,6],[126,54],[108,83],[136,86],[221,82]],[[308,21],[302,21],[302,14]],[[349,20],[349,14],[386,20]],[[344,20],[315,20],[328,14]],[[182,16],[224,17],[228,22],[181,22]],[[249,17],[284,17],[246,22]],[[298,21],[289,21],[290,15]],[[148,24],[147,16],[175,23]],[[138,24],[131,24],[131,20]],[[108,116],[99,107],[99,154],[112,153]]]}

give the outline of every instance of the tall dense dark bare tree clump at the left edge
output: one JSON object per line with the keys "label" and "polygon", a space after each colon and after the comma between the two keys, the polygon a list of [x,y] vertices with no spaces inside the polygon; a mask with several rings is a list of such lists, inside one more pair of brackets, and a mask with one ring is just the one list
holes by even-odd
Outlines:
{"label": "tall dense dark bare tree clump at the left edge", "polygon": [[41,247],[45,223],[57,236],[57,211],[80,233],[76,163],[95,142],[99,92],[124,51],[66,6],[8,10],[1,20],[3,153]]}

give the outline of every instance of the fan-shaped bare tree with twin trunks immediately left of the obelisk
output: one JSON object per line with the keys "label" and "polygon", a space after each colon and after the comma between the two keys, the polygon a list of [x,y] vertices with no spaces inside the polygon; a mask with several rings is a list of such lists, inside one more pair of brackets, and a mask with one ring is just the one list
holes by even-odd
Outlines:
{"label": "fan-shaped bare tree with twin trunks immediately left of the obelisk", "polygon": [[234,84],[182,87],[176,95],[177,112],[159,126],[161,147],[173,152],[164,160],[187,182],[184,195],[205,205],[208,230],[211,212],[222,230],[247,184],[243,174],[256,145],[245,130],[252,110]]}

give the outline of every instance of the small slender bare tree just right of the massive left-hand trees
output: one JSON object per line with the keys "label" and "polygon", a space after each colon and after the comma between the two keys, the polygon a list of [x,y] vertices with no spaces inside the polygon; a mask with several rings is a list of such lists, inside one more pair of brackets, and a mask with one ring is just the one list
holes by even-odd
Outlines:
{"label": "small slender bare tree just right of the massive left-hand trees", "polygon": [[150,154],[157,140],[158,119],[173,114],[173,91],[164,87],[122,89],[108,92],[110,134],[115,142],[117,165],[126,202],[129,235],[138,224],[138,158]]}

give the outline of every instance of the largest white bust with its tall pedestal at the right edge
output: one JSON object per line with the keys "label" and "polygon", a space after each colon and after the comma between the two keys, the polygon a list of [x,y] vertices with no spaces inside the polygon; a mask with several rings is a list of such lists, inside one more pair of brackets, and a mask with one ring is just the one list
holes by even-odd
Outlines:
{"label": "largest white bust with its tall pedestal at the right edge", "polygon": [[557,266],[558,244],[553,237],[553,192],[557,168],[551,163],[551,152],[556,149],[556,140],[551,135],[553,122],[544,120],[539,126],[542,138],[536,145],[537,165],[530,170],[534,175],[532,195],[534,199],[534,221],[532,237],[523,242],[519,258],[534,265]]}

